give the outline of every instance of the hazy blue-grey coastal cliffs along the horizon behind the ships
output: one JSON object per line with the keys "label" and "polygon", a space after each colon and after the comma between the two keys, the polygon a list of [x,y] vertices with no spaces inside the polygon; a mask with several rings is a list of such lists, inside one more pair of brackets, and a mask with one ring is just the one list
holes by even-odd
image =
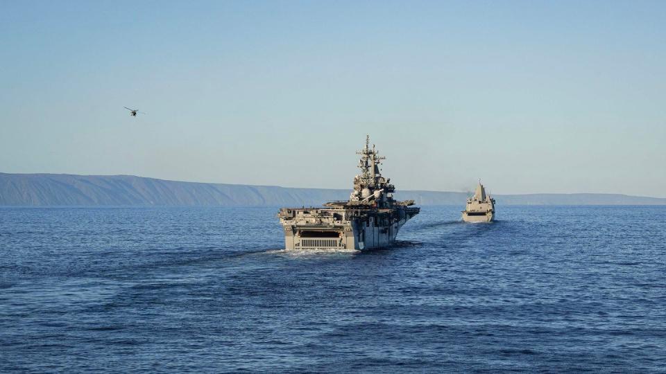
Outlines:
{"label": "hazy blue-grey coastal cliffs along the horizon behind the ships", "polygon": [[[419,205],[464,205],[467,193],[403,190]],[[0,206],[321,206],[349,190],[170,181],[132,175],[0,172]],[[504,205],[666,205],[666,198],[604,193],[493,195]]]}

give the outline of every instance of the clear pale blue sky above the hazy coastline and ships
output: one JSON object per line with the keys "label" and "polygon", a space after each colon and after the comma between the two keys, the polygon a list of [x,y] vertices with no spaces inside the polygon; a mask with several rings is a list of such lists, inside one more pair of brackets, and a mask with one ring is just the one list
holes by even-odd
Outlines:
{"label": "clear pale blue sky above the hazy coastline and ships", "polygon": [[[0,0],[0,172],[666,197],[666,1]],[[123,107],[145,115],[130,117]]]}

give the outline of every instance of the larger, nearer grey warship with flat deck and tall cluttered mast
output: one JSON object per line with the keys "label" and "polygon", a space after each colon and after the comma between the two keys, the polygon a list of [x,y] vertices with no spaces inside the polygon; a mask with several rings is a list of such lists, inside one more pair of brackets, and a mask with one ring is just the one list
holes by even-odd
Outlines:
{"label": "larger, nearer grey warship with flat deck and tall cluttered mast", "polygon": [[281,208],[278,217],[287,249],[373,249],[395,242],[400,227],[418,214],[413,200],[393,199],[395,186],[382,177],[381,160],[370,136],[361,155],[361,174],[354,177],[348,201],[328,202],[325,208]]}

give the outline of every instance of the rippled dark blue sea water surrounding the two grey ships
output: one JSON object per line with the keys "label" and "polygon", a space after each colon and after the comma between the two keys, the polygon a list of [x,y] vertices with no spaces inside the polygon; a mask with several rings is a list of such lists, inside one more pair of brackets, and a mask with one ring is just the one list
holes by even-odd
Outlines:
{"label": "rippled dark blue sea water surrounding the two grey ships", "polygon": [[666,207],[425,207],[280,251],[276,208],[0,208],[0,371],[664,371]]}

